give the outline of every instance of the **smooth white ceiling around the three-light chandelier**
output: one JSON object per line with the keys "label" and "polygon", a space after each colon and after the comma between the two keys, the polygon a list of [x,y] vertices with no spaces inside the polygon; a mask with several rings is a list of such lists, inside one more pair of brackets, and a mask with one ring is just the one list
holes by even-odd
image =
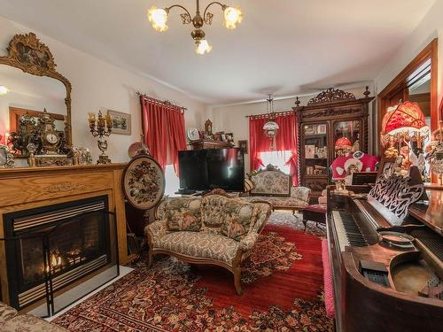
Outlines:
{"label": "smooth white ceiling around the three-light chandelier", "polygon": [[434,2],[229,0],[244,20],[227,30],[214,6],[213,26],[204,27],[214,49],[205,56],[195,54],[181,12],[171,11],[165,33],[146,19],[154,4],[195,12],[193,0],[0,0],[0,15],[207,104],[228,104],[370,81]]}

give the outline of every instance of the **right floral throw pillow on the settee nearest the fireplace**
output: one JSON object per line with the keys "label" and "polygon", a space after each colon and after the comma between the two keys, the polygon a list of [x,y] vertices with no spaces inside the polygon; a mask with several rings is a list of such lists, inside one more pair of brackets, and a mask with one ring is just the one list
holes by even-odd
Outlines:
{"label": "right floral throw pillow on the settee nearest the fireplace", "polygon": [[223,210],[225,218],[221,225],[221,234],[240,241],[253,227],[256,218],[255,205],[229,199]]}

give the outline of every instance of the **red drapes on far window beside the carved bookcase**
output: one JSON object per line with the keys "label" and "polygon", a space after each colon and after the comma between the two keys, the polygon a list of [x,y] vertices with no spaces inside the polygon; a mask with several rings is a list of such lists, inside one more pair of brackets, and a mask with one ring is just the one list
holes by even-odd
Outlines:
{"label": "red drapes on far window beside the carved bookcase", "polygon": [[[260,152],[271,151],[271,138],[264,135],[263,126],[268,122],[268,116],[249,118],[249,156],[251,170],[259,169],[263,165]],[[298,156],[297,156],[297,117],[293,113],[276,116],[278,135],[276,135],[276,151],[291,151],[291,158],[287,160],[292,176],[292,184],[298,183]]]}

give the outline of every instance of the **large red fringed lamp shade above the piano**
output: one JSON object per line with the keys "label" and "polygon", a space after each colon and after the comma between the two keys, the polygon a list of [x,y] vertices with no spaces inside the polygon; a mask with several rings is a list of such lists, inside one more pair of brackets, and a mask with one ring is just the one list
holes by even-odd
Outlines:
{"label": "large red fringed lamp shade above the piano", "polygon": [[424,114],[417,103],[404,102],[389,107],[382,121],[382,143],[416,141],[421,147],[422,140],[429,135]]}

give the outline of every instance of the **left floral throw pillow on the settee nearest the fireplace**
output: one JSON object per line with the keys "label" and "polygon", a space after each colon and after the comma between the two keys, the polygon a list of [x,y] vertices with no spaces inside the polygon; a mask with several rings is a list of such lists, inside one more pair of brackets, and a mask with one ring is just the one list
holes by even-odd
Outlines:
{"label": "left floral throw pillow on the settee nearest the fireplace", "polygon": [[165,217],[167,230],[198,232],[201,228],[200,199],[168,198]]}

